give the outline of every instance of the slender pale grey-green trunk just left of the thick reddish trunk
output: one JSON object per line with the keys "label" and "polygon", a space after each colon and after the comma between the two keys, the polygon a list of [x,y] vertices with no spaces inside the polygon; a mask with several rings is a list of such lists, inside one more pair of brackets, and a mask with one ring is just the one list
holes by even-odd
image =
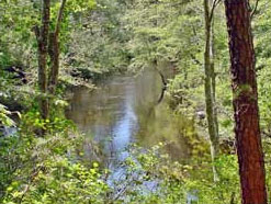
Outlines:
{"label": "slender pale grey-green trunk just left of the thick reddish trunk", "polygon": [[205,53],[204,53],[204,70],[205,70],[205,103],[208,125],[208,135],[211,141],[211,157],[213,162],[214,181],[218,181],[218,173],[215,168],[215,159],[219,150],[218,141],[218,124],[217,114],[215,113],[215,73],[214,73],[214,56],[213,56],[213,34],[212,21],[210,11],[210,0],[204,0],[204,16],[205,16]]}

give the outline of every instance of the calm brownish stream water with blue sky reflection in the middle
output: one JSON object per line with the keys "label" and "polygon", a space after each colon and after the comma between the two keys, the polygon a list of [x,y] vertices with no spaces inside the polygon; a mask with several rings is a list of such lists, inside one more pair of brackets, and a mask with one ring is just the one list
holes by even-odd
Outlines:
{"label": "calm brownish stream water with blue sky reflection in the middle", "polygon": [[[132,143],[148,148],[169,141],[165,151],[176,160],[187,159],[190,149],[183,135],[194,133],[193,124],[174,115],[166,98],[158,103],[162,86],[155,69],[137,77],[113,77],[94,91],[74,90],[67,116],[86,134],[86,140],[93,137],[100,144],[109,167],[127,157]],[[87,158],[92,150],[86,143]]]}

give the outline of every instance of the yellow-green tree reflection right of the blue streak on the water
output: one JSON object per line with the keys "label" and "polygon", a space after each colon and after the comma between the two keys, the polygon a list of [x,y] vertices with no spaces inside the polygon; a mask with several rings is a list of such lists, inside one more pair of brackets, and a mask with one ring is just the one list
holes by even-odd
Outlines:
{"label": "yellow-green tree reflection right of the blue streak on the water", "polygon": [[158,100],[163,91],[160,73],[145,72],[137,83],[135,112],[138,117],[137,141],[145,147],[159,141],[169,143],[165,150],[176,160],[185,159],[191,154],[188,138],[196,138],[193,122],[182,115],[173,114],[165,98]]}

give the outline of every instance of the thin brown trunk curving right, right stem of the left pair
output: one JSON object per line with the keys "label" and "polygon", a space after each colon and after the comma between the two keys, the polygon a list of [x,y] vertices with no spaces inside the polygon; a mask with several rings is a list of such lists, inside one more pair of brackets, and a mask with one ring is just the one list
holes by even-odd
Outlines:
{"label": "thin brown trunk curving right, right stem of the left pair", "polygon": [[49,35],[49,57],[50,57],[50,72],[48,77],[48,89],[50,94],[55,94],[56,87],[58,83],[58,75],[59,75],[59,33],[60,25],[64,15],[66,0],[61,1],[61,5],[58,12],[57,22],[55,32]]}

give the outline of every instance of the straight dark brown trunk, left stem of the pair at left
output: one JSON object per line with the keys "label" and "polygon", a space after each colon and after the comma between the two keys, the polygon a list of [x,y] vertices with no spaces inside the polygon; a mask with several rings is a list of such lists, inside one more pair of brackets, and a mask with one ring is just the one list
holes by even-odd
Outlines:
{"label": "straight dark brown trunk, left stem of the pair at left", "polygon": [[41,114],[44,120],[48,117],[48,99],[47,94],[47,44],[48,44],[48,33],[49,33],[49,11],[50,10],[50,0],[43,1],[42,10],[42,27],[35,27],[35,34],[37,38],[37,53],[38,53],[38,88],[42,92],[39,100]]}

